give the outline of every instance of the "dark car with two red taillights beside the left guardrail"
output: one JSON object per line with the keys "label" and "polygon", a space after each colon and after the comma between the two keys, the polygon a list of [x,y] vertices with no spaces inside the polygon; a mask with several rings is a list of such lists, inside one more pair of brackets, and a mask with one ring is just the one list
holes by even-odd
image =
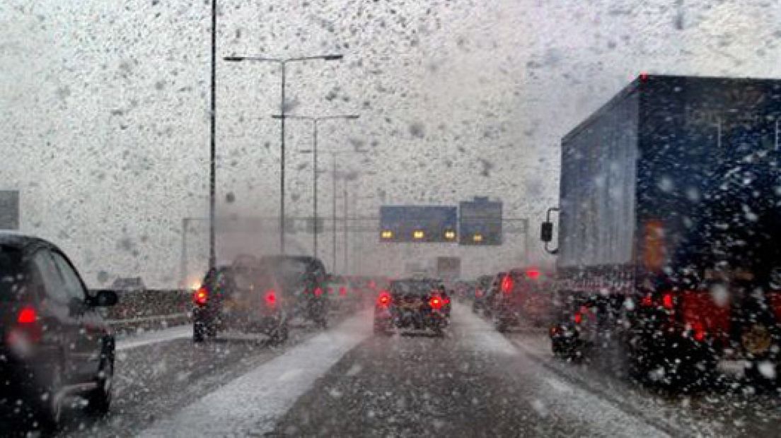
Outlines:
{"label": "dark car with two red taillights beside the left guardrail", "polygon": [[275,273],[258,260],[215,267],[193,293],[193,341],[235,330],[266,334],[273,344],[280,344],[287,340],[293,299]]}

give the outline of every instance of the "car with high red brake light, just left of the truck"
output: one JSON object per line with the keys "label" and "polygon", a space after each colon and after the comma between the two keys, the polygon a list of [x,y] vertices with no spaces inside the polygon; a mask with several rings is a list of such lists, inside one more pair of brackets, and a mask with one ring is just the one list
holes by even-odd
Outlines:
{"label": "car with high red brake light, just left of the truck", "polygon": [[554,319],[551,275],[537,267],[509,270],[494,295],[491,316],[497,331],[524,323],[543,327]]}

